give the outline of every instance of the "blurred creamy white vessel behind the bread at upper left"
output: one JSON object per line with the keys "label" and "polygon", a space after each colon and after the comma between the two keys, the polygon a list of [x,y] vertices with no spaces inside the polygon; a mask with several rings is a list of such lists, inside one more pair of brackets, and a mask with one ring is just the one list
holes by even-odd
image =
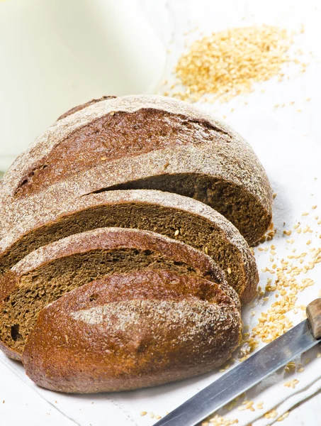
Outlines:
{"label": "blurred creamy white vessel behind the bread at upper left", "polygon": [[165,50],[133,0],[0,0],[0,170],[60,114],[152,93]]}

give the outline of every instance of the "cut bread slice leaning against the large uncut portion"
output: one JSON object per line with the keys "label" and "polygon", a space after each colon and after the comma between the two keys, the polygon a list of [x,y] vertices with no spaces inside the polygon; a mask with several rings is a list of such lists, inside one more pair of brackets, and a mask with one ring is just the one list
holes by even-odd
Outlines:
{"label": "cut bread slice leaning against the large uncut portion", "polygon": [[244,238],[225,217],[188,197],[156,190],[107,191],[45,208],[0,241],[0,274],[31,251],[65,236],[108,226],[146,229],[205,251],[225,272],[242,304],[256,295],[259,275]]}

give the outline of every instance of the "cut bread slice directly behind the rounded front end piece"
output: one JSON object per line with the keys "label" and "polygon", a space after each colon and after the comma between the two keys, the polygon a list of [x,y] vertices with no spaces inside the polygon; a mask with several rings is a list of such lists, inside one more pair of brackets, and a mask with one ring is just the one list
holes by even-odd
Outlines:
{"label": "cut bread slice directly behind the rounded front end piece", "polygon": [[0,348],[20,359],[38,312],[64,293],[111,275],[143,269],[195,274],[218,283],[240,309],[212,258],[150,231],[103,228],[74,234],[28,254],[0,281]]}

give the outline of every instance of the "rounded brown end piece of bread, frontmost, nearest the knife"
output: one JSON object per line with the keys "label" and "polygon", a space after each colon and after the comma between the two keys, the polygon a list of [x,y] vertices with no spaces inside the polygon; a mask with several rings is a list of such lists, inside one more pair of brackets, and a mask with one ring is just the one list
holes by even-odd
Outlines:
{"label": "rounded brown end piece of bread, frontmost, nearest the knife", "polygon": [[41,310],[23,364],[52,391],[128,391],[211,371],[240,338],[240,313],[219,285],[138,271],[83,285]]}

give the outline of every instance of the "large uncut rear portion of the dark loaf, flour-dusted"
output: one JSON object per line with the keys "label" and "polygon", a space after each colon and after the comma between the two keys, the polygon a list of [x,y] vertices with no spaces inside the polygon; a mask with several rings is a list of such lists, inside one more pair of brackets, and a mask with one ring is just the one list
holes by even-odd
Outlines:
{"label": "large uncut rear portion of the dark loaf, flour-dusted", "polygon": [[47,205],[102,190],[156,189],[218,210],[249,244],[271,224],[269,180],[252,148],[222,122],[159,96],[95,102],[57,121],[4,175],[2,234]]}

